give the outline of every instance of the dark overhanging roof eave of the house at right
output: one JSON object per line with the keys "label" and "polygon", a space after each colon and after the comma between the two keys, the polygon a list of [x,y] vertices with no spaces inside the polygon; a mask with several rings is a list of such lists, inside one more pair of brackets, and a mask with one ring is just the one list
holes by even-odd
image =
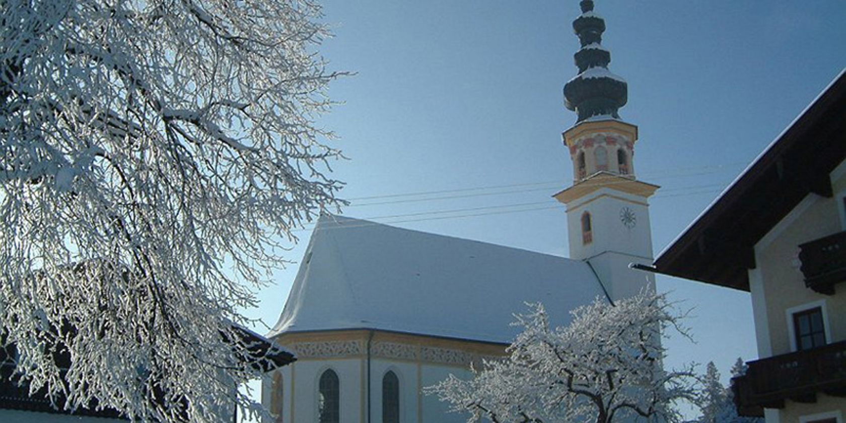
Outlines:
{"label": "dark overhanging roof eave of the house at right", "polygon": [[667,246],[656,272],[749,291],[754,247],[846,158],[846,69]]}

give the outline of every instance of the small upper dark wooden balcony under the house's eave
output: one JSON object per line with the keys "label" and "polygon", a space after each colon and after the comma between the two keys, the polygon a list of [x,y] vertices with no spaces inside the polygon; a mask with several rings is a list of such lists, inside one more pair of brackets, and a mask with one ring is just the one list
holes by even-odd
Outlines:
{"label": "small upper dark wooden balcony under the house's eave", "polygon": [[805,286],[833,295],[834,285],[846,280],[846,231],[799,245]]}

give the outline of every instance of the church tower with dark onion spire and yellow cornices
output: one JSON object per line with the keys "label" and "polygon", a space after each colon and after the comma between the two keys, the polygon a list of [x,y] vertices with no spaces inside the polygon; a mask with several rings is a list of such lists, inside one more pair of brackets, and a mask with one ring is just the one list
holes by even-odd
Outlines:
{"label": "church tower with dark onion spire and yellow cornices", "polygon": [[581,45],[574,55],[579,74],[564,85],[564,104],[578,115],[563,133],[573,185],[554,196],[567,206],[570,257],[587,261],[616,300],[655,288],[651,274],[634,272],[629,263],[652,262],[647,200],[658,186],[634,176],[638,129],[618,114],[628,85],[608,70],[605,20],[594,13],[593,1],[582,0],[580,7],[573,21]]}

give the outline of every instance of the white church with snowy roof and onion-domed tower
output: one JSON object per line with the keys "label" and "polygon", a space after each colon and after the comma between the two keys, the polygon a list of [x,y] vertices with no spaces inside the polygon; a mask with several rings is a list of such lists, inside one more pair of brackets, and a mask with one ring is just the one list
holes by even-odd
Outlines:
{"label": "white church with snowy roof and onion-domed tower", "polygon": [[262,403],[275,422],[463,422],[427,396],[449,374],[503,356],[525,302],[553,326],[597,297],[613,302],[655,289],[648,199],[658,186],[634,173],[638,128],[620,118],[625,80],[608,70],[605,21],[580,2],[573,28],[578,74],[564,85],[577,113],[563,132],[573,184],[566,206],[570,258],[350,217],[324,215],[272,332],[297,361],[266,377]]}

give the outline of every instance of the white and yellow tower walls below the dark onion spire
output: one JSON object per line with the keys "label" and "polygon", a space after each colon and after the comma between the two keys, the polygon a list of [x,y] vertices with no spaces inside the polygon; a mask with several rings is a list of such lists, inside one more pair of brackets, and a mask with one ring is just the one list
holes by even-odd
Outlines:
{"label": "white and yellow tower walls below the dark onion spire", "polygon": [[[629,268],[630,263],[652,262],[648,199],[658,189],[634,176],[637,134],[636,126],[618,119],[581,122],[563,134],[574,162],[574,184],[555,198],[567,206],[570,257],[591,264],[613,300],[655,290],[653,275]],[[597,166],[598,148],[607,151],[607,166]]]}

